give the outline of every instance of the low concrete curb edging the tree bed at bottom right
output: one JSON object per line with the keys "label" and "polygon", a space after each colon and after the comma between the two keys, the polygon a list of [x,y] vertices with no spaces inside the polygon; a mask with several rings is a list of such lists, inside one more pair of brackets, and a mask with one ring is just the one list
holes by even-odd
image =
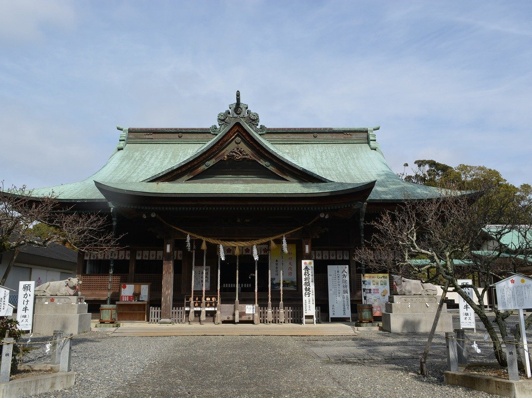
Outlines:
{"label": "low concrete curb edging the tree bed at bottom right", "polygon": [[527,398],[532,396],[532,380],[506,380],[499,377],[483,376],[468,372],[443,372],[445,384],[467,387],[484,391],[488,394],[509,396],[512,398]]}

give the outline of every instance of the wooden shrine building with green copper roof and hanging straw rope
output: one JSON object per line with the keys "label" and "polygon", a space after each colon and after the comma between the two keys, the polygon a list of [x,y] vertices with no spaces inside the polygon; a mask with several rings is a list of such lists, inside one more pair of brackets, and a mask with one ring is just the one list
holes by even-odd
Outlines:
{"label": "wooden shrine building with green copper roof and hanging straw rope", "polygon": [[364,225],[405,198],[438,196],[390,169],[379,126],[266,128],[238,92],[217,122],[118,127],[92,176],[32,191],[36,200],[53,192],[69,211],[108,214],[123,235],[118,251],[78,253],[87,302],[105,303],[108,292],[120,302],[122,286],[147,284],[145,301],[165,320],[184,307],[214,321],[257,321],[264,308],[271,321],[302,306],[301,265],[311,260],[315,305],[327,312],[327,266],[345,265],[354,308],[364,270],[352,251],[371,234]]}

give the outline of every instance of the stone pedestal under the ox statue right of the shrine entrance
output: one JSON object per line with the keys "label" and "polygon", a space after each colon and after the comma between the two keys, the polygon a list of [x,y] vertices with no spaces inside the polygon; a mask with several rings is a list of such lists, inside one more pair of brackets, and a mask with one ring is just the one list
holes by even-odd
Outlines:
{"label": "stone pedestal under the ox statue right of the shrine entrance", "polygon": [[[392,295],[385,304],[383,330],[392,333],[425,332],[432,328],[440,296]],[[453,318],[444,304],[436,331],[453,331]]]}

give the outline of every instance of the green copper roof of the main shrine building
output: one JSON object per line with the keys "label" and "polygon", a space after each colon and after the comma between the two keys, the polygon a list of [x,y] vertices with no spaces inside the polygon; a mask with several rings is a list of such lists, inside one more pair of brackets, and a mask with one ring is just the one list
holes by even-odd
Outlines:
{"label": "green copper roof of the main shrine building", "polygon": [[[277,159],[282,159],[294,168],[304,170],[323,181],[332,183],[311,183],[311,185],[267,183],[239,183],[231,186],[235,193],[276,192],[318,194],[321,189],[340,189],[376,181],[369,202],[398,202],[404,198],[418,199],[439,196],[437,188],[406,183],[388,166],[375,139],[376,128],[297,128],[267,129],[258,126],[258,115],[247,111],[245,117],[236,112],[238,106],[230,105],[230,111],[218,116],[220,127],[210,129],[182,128],[119,128],[119,145],[107,163],[94,175],[77,183],[34,189],[33,195],[44,196],[53,193],[64,201],[105,201],[94,181],[127,190],[139,190],[179,195],[183,192],[205,194],[224,192],[227,185],[217,181],[160,182],[156,185],[142,183],[153,176],[187,163],[203,151],[209,151],[212,144],[229,131],[235,122],[241,123],[251,132],[256,142]],[[255,118],[256,115],[256,118]],[[329,185],[328,185],[329,184]],[[332,185],[330,185],[332,184]],[[272,187],[275,189],[272,190]]]}

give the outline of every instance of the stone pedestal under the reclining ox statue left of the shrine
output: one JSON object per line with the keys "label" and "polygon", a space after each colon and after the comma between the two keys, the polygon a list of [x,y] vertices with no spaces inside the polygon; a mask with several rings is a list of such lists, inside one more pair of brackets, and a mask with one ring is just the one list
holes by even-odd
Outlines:
{"label": "stone pedestal under the reclining ox statue left of the shrine", "polygon": [[52,335],[54,330],[77,335],[90,331],[91,314],[83,296],[35,297],[33,332]]}

